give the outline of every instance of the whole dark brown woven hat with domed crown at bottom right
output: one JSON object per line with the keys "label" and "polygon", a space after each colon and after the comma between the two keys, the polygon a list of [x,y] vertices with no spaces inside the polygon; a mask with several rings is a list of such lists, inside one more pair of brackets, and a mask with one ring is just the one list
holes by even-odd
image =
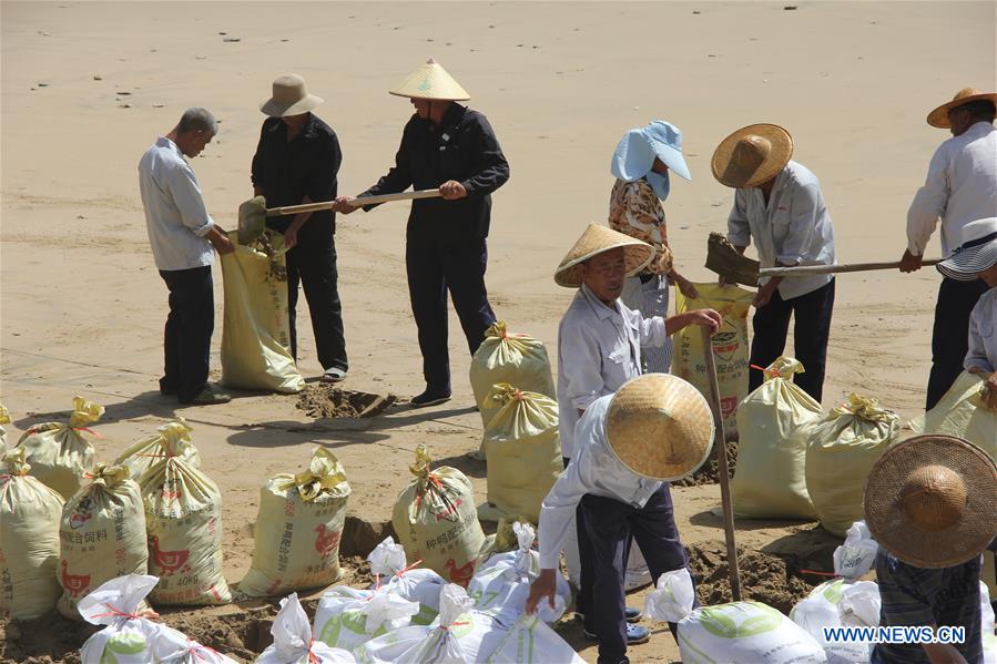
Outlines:
{"label": "whole dark brown woven hat with domed crown at bottom right", "polygon": [[879,544],[917,568],[973,560],[997,535],[997,464],[954,436],[917,436],[876,461],[865,521]]}

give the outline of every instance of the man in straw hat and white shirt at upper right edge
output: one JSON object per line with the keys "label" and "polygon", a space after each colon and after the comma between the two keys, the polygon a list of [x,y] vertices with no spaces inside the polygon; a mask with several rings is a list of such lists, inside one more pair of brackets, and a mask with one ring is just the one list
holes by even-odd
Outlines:
{"label": "man in straw hat and white shirt at upper right edge", "polygon": [[[995,104],[997,93],[966,88],[928,114],[929,125],[950,130],[953,137],[935,151],[925,184],[910,203],[901,272],[920,269],[939,218],[942,255],[947,258],[960,244],[966,224],[997,214]],[[938,287],[926,410],[935,407],[963,370],[969,311],[986,289],[979,279],[959,282],[948,276]]]}

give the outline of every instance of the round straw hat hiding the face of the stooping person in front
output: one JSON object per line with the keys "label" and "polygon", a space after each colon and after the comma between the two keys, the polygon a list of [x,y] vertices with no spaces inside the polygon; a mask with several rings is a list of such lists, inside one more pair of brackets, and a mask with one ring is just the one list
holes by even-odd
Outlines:
{"label": "round straw hat hiding the face of the stooping person in front", "polygon": [[670,374],[647,374],[613,395],[606,438],[629,470],[671,482],[692,474],[710,457],[713,413],[689,382]]}

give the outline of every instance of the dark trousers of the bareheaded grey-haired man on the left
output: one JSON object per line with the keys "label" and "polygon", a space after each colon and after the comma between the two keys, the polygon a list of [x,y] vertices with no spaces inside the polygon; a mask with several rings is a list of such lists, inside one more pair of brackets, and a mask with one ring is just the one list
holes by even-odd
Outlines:
{"label": "dark trousers of the bareheaded grey-haired man on the left", "polygon": [[185,403],[207,384],[211,335],[215,327],[211,266],[161,269],[170,290],[170,315],[163,330],[163,377],[160,391]]}

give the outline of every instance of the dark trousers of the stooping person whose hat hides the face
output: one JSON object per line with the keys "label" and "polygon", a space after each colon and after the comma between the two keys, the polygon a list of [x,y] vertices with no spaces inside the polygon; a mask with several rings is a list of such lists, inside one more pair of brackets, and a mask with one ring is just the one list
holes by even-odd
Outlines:
{"label": "dark trousers of the stooping person whose hat hides the face", "polygon": [[[661,574],[689,565],[675,527],[671,493],[668,484],[662,484],[643,508],[586,494],[577,518],[581,585],[587,585],[588,573],[592,589],[591,603],[584,612],[586,629],[594,631],[599,639],[599,664],[629,662],[623,581],[631,537],[643,552],[654,583]],[[674,636],[675,624],[669,623],[669,629]]]}

